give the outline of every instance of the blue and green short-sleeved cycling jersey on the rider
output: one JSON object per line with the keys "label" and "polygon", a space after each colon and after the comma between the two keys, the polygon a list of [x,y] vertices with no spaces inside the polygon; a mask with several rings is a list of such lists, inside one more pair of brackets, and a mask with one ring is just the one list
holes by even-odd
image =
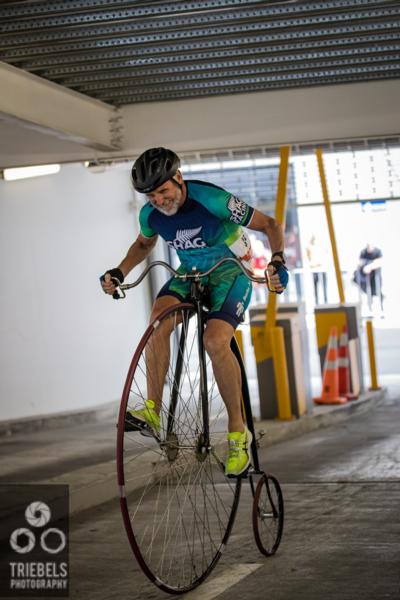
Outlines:
{"label": "blue and green short-sleeved cycling jersey on the rider", "polygon": [[205,271],[220,258],[238,256],[246,264],[247,226],[254,208],[226,190],[203,181],[185,181],[187,197],[175,215],[164,215],[147,202],[140,211],[140,233],[159,234],[179,256],[184,269]]}

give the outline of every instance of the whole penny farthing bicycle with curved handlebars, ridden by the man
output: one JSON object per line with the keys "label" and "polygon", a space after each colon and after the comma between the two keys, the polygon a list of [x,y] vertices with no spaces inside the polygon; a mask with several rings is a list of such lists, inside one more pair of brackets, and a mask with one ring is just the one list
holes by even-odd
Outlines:
{"label": "whole penny farthing bicycle with curved handlebars, ridden by the man", "polygon": [[[252,281],[268,283],[267,274],[266,279],[254,277],[234,258],[220,260],[205,273],[184,275],[156,261],[134,283],[116,281],[121,297],[156,265],[191,281],[190,302],[159,314],[133,355],[117,433],[120,504],[130,545],[147,577],[171,594],[198,586],[216,566],[232,531],[245,479],[253,494],[253,530],[259,550],[273,555],[282,537],[282,492],[277,479],[260,468],[246,373],[234,337],[231,348],[241,371],[243,414],[253,434],[252,462],[244,476],[224,474],[227,413],[203,346],[207,308],[202,281],[228,261]],[[159,383],[160,432],[147,425],[124,431],[127,410],[143,408],[148,398],[154,361],[165,343],[168,364]],[[152,383],[154,389],[156,382]]]}

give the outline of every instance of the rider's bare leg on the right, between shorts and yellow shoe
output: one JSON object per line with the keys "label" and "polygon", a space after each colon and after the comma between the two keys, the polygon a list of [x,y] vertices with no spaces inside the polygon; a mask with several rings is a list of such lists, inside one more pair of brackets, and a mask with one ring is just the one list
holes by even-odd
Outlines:
{"label": "rider's bare leg on the right, between shorts and yellow shoe", "polygon": [[232,325],[210,319],[204,332],[204,345],[211,359],[219,392],[228,411],[229,431],[244,431],[241,410],[241,373],[230,343],[235,333]]}

